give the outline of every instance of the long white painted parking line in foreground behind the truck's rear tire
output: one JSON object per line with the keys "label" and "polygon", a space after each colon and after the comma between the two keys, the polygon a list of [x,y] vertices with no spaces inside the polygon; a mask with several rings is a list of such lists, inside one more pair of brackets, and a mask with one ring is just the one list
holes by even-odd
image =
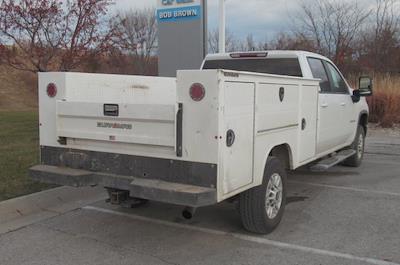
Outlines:
{"label": "long white painted parking line in foreground behind the truck's rear tire", "polygon": [[213,235],[219,235],[219,236],[231,236],[231,237],[245,240],[248,242],[269,245],[272,247],[277,247],[277,248],[282,248],[282,249],[296,250],[296,251],[306,252],[306,253],[315,254],[315,255],[329,256],[329,257],[334,257],[334,258],[342,258],[342,259],[346,259],[346,260],[350,260],[350,261],[359,261],[359,262],[365,262],[365,263],[374,264],[374,265],[400,265],[399,263],[394,263],[394,262],[389,262],[389,261],[384,261],[384,260],[378,260],[378,259],[366,258],[366,257],[358,257],[358,256],[355,256],[352,254],[346,254],[346,253],[340,253],[340,252],[335,252],[335,251],[329,251],[329,250],[323,250],[323,249],[317,249],[317,248],[311,248],[311,247],[304,247],[304,246],[295,245],[295,244],[283,243],[283,242],[279,242],[279,241],[269,240],[269,239],[266,239],[263,237],[249,236],[249,235],[244,235],[244,234],[239,234],[239,233],[223,232],[223,231],[214,230],[214,229],[210,229],[210,228],[196,227],[196,226],[187,225],[187,224],[178,224],[178,223],[173,223],[173,222],[168,222],[168,221],[163,221],[163,220],[157,220],[157,219],[152,219],[152,218],[148,218],[148,217],[144,217],[144,216],[138,216],[138,215],[134,215],[134,214],[128,214],[128,213],[122,213],[122,212],[113,211],[113,210],[109,210],[109,209],[104,209],[104,208],[100,208],[100,207],[85,206],[82,209],[127,217],[127,218],[138,220],[138,221],[149,222],[149,223],[169,226],[169,227],[173,227],[173,228],[183,228],[183,229],[188,229],[188,230],[192,230],[192,231],[203,232],[203,233],[208,233],[208,234],[213,234]]}

